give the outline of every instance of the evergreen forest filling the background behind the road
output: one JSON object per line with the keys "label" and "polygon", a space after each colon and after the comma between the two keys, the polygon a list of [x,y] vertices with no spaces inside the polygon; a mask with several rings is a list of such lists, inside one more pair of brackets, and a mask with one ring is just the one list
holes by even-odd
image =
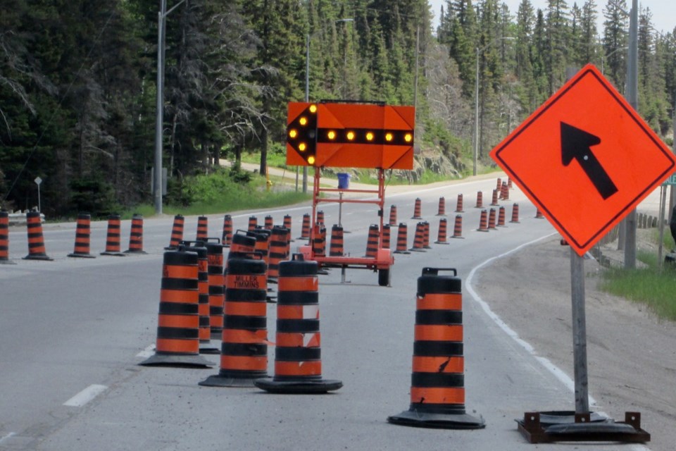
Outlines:
{"label": "evergreen forest filling the background behind the road", "polygon": [[[48,216],[152,202],[161,1],[0,1],[0,206],[37,205],[37,177]],[[415,105],[417,149],[465,175],[475,134],[483,169],[571,69],[624,91],[627,0],[448,0],[438,27],[427,0],[164,1],[170,192],[244,153],[265,173],[306,80],[311,101]],[[675,94],[676,29],[641,8],[639,113],[665,139]]]}

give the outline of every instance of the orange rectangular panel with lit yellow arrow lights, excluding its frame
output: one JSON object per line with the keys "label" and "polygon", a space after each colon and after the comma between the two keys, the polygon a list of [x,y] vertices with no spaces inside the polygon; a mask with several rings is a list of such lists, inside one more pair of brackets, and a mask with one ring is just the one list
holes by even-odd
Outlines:
{"label": "orange rectangular panel with lit yellow arrow lights, excluding its frame", "polygon": [[287,164],[413,168],[413,106],[289,103]]}

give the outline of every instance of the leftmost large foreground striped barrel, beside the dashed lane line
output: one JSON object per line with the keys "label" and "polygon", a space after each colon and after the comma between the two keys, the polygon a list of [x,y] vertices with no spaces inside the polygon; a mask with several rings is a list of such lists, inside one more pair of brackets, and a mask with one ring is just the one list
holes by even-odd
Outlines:
{"label": "leftmost large foreground striped barrel, beside the dashed lane line", "polygon": [[198,259],[184,247],[164,253],[155,355],[139,365],[212,365],[199,355]]}

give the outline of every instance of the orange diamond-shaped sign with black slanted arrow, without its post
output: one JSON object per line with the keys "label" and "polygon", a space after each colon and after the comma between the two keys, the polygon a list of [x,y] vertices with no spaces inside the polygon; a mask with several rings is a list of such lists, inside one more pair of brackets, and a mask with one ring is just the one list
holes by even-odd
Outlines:
{"label": "orange diamond-shaped sign with black slanted arrow, without its post", "polygon": [[491,156],[580,255],[676,167],[670,149],[591,64]]}

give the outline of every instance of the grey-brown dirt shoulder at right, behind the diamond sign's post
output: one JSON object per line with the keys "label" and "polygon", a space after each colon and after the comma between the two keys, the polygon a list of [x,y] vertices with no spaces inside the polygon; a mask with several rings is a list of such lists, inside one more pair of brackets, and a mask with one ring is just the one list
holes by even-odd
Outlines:
{"label": "grey-brown dirt shoulder at right, behind the diamond sign's post", "polygon": [[[613,246],[606,249],[611,258]],[[601,292],[597,261],[585,260],[584,271],[592,410],[618,421],[624,412],[641,412],[649,448],[676,450],[676,323]],[[570,248],[560,245],[558,235],[492,262],[474,285],[520,338],[572,378]],[[570,396],[569,406],[532,408],[574,409]]]}

